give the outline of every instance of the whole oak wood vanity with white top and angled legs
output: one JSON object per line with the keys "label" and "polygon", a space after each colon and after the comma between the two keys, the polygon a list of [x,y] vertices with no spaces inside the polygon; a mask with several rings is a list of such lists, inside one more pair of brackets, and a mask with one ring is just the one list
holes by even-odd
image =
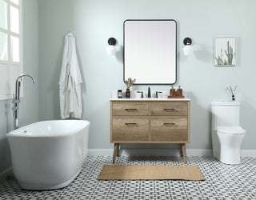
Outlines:
{"label": "whole oak wood vanity with white top and angled legs", "polygon": [[110,142],[114,143],[113,163],[120,143],[180,143],[186,163],[190,99],[110,99]]}

